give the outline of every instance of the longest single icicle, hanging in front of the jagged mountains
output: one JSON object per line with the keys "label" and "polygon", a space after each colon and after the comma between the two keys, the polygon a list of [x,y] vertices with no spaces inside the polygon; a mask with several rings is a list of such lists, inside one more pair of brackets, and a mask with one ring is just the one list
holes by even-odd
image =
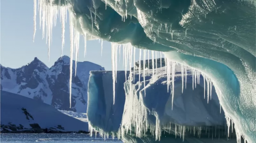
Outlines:
{"label": "longest single icicle, hanging in front of the jagged mountains", "polygon": [[70,75],[69,75],[69,101],[70,101],[70,108],[72,103],[72,71],[73,71],[73,49],[74,49],[74,28],[73,25],[70,24]]}

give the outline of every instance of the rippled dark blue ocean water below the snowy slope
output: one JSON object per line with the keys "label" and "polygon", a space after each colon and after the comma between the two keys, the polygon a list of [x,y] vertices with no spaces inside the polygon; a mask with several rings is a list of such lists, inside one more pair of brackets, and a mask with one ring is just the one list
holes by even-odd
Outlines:
{"label": "rippled dark blue ocean water below the snowy slope", "polygon": [[87,134],[0,134],[1,143],[89,143],[89,142],[104,142],[104,143],[122,143],[122,141],[114,140],[112,137],[104,140],[97,136],[90,137]]}

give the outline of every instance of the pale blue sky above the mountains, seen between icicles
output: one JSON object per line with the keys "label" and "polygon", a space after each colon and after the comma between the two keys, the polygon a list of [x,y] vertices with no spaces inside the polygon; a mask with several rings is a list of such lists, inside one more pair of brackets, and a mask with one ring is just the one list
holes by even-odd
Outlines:
{"label": "pale blue sky above the mountains, seen between icicles", "polygon": [[[1,64],[5,67],[19,68],[31,62],[34,57],[51,67],[61,56],[61,25],[59,19],[53,27],[53,42],[48,60],[48,45],[42,39],[42,30],[39,29],[39,17],[36,19],[36,35],[33,42],[33,1],[32,0],[1,0]],[[63,55],[70,56],[69,20],[65,27],[65,46]],[[80,39],[80,53],[78,61],[90,61],[111,70],[111,44],[103,42],[101,57],[101,43],[98,40],[87,41],[87,55],[83,56],[84,43]],[[139,50],[136,50],[136,60],[139,59]],[[141,56],[142,58],[143,56]],[[121,54],[122,59],[122,54]],[[122,61],[117,65],[123,70]]]}

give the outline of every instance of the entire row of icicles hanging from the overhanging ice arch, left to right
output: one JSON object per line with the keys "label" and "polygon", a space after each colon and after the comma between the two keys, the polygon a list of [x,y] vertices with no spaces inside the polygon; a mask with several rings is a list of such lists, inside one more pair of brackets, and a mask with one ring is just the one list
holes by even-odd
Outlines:
{"label": "entire row of icicles hanging from the overhanging ice arch, left to right", "polygon": [[[62,46],[61,46],[61,56],[62,56],[62,51],[63,51],[63,47],[64,47],[64,35],[65,35],[65,22],[67,22],[67,7],[68,5],[63,5],[61,6],[60,1],[59,1],[59,6],[56,5],[52,5],[53,0],[50,0],[50,2],[48,3],[45,0],[38,0],[38,7],[36,7],[37,5],[37,0],[34,0],[34,34],[33,34],[33,40],[35,37],[35,31],[36,31],[36,13],[38,10],[39,12],[39,25],[40,25],[40,29],[42,27],[42,37],[45,37],[45,30],[46,30],[46,43],[48,43],[48,58],[50,60],[50,45],[52,42],[52,29],[53,26],[56,25],[57,23],[57,17],[59,16],[60,19],[60,23],[61,23],[61,40],[62,40]],[[72,22],[70,22],[72,23]],[[79,23],[82,25],[82,19],[79,19]],[[45,28],[46,26],[46,28]],[[75,52],[75,75],[76,75],[76,64],[77,64],[77,60],[78,60],[78,53],[79,53],[79,41],[80,41],[80,37],[81,34],[78,32],[78,30],[76,30],[76,24],[70,24],[70,82],[69,82],[69,90],[70,90],[70,107],[72,106],[72,74],[73,74],[73,53]],[[84,56],[86,55],[86,33],[83,36],[84,37]],[[102,55],[102,44],[103,44],[103,40],[101,40],[101,55]],[[127,74],[127,62],[129,60],[129,67],[130,67],[130,74],[131,74],[131,67],[132,67],[132,59],[135,63],[135,47],[133,48],[133,46],[131,44],[122,44],[123,45],[123,65],[125,65],[125,74]],[[119,47],[119,48],[118,48]],[[120,61],[120,44],[117,43],[112,43],[112,52],[111,52],[111,56],[112,56],[112,71],[113,71],[113,97],[114,97],[114,104],[115,104],[115,81],[117,79],[117,50],[119,49],[119,61]],[[74,50],[75,49],[75,50]],[[139,50],[139,61],[141,60],[141,49]],[[146,59],[146,54],[148,56],[148,63],[149,63],[149,54],[150,51],[143,49],[143,74],[145,74],[145,59]],[[157,56],[159,56],[159,52],[156,51],[154,53],[154,51],[151,51],[151,58],[154,59],[154,56],[157,60]],[[162,52],[160,54],[160,56],[162,56]],[[165,58],[166,59],[166,58]],[[161,57],[160,57],[161,60]],[[157,62],[157,61],[156,61]],[[160,61],[161,63],[161,61]],[[167,81],[169,81],[170,77],[170,61],[166,59],[165,62],[165,71],[167,71]],[[135,65],[135,64],[134,64]],[[152,60],[152,68],[153,71],[154,69],[157,72],[157,64],[156,67],[154,67],[154,60]],[[174,66],[174,62],[172,64],[172,78],[174,78],[174,71],[175,71],[175,66]],[[148,64],[149,66],[149,64]],[[139,62],[139,74],[140,74],[140,67],[141,64]],[[182,66],[183,67],[183,66]],[[182,74],[183,71],[186,71],[186,66],[184,66],[185,69],[182,68]],[[161,68],[161,66],[160,66]],[[166,70],[167,68],[167,70]],[[149,69],[149,67],[148,67]],[[195,70],[193,70],[193,75],[194,72],[196,72]],[[134,73],[135,74],[135,73]],[[185,72],[186,74],[186,72]],[[195,73],[195,76],[193,76],[193,79],[195,77],[195,84],[196,84],[196,78],[198,77],[199,79],[199,72]],[[183,77],[183,76],[182,76]],[[154,72],[153,72],[153,79],[154,79]],[[144,77],[145,80],[145,77]],[[140,76],[139,76],[139,81],[140,81]],[[186,78],[185,78],[186,81]],[[207,85],[210,84],[210,88],[212,87],[212,82],[209,80],[209,78],[206,78],[207,81]],[[199,80],[198,80],[199,82]],[[169,82],[167,82],[169,84]],[[183,78],[182,78],[182,83],[183,83]],[[194,83],[194,82],[193,82]],[[183,84],[182,84],[183,85]],[[144,86],[145,86],[145,82],[144,82]],[[167,85],[167,90],[169,90],[169,85]],[[195,85],[196,86],[196,85]],[[205,86],[204,86],[205,87]],[[209,86],[207,86],[209,88]],[[174,88],[174,81],[172,80],[172,89]],[[193,84],[193,88],[194,88],[194,84]],[[182,87],[182,91],[183,91],[183,87]],[[207,95],[209,95],[209,90],[207,90]],[[174,92],[172,92],[172,97],[174,96]],[[208,96],[209,97],[209,96]],[[172,100],[173,101],[173,100]]]}

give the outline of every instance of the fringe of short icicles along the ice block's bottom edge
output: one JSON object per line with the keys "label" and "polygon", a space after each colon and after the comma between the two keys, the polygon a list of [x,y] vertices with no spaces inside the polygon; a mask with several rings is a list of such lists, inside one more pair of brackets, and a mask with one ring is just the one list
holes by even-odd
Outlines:
{"label": "fringe of short icicles along the ice block's bottom edge", "polygon": [[[100,137],[103,137],[104,139],[109,138],[110,135],[112,136],[112,139],[114,139],[115,137],[117,137],[117,139],[122,139],[122,137],[125,136],[125,134],[127,135],[133,135],[134,133],[136,134],[136,137],[146,137],[146,133],[148,132],[149,129],[149,133],[152,136],[156,136],[156,141],[159,140],[160,141],[160,137],[162,134],[173,134],[175,135],[175,138],[177,138],[177,135],[180,136],[180,138],[182,137],[182,140],[184,141],[185,138],[185,133],[186,135],[194,135],[197,136],[198,138],[201,138],[201,136],[206,137],[208,136],[208,138],[212,138],[213,139],[219,139],[220,137],[222,138],[226,138],[231,139],[231,138],[235,138],[238,133],[235,132],[235,128],[234,128],[234,123],[232,120],[228,120],[229,122],[227,122],[227,124],[229,124],[228,126],[226,126],[225,124],[223,126],[221,125],[216,125],[216,126],[184,126],[184,125],[179,125],[179,124],[174,124],[174,123],[166,123],[162,126],[160,126],[159,124],[149,124],[148,122],[145,124],[144,128],[141,128],[141,130],[135,129],[134,132],[132,131],[132,127],[126,129],[124,126],[121,126],[119,128],[119,130],[116,132],[104,132],[103,130],[97,128],[97,127],[93,127],[90,123],[90,121],[88,122],[89,124],[89,132],[90,132],[90,136],[93,137],[93,134],[95,134],[95,138],[97,137],[97,133],[99,134]],[[157,122],[159,122],[159,120],[157,120]],[[231,128],[230,128],[230,124],[231,124]],[[204,132],[205,131],[205,132]],[[241,143],[241,140],[238,139],[238,142]],[[246,142],[246,141],[245,141]]]}

